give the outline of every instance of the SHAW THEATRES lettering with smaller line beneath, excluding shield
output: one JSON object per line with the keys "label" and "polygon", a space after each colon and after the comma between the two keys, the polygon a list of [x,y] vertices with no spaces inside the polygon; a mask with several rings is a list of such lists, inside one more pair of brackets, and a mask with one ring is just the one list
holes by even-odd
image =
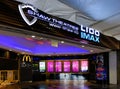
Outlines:
{"label": "SHAW THEATRES lettering with smaller line beneath, excluding shield", "polygon": [[30,10],[30,9],[28,9],[27,13],[33,17],[37,17],[40,20],[48,22],[49,26],[51,26],[51,27],[63,29],[63,30],[66,30],[66,31],[74,33],[74,34],[79,34],[79,32],[78,32],[79,28],[74,26],[74,25],[63,22],[63,21],[58,20],[56,18],[52,18],[50,16],[46,16],[43,13],[35,12],[33,10]]}

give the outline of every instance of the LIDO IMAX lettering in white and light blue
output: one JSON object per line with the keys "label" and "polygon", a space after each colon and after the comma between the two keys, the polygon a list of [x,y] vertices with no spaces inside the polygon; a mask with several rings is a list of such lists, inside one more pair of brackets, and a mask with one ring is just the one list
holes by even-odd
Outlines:
{"label": "LIDO IMAX lettering in white and light blue", "polygon": [[100,42],[100,32],[93,28],[88,28],[83,25],[80,26],[80,37],[85,40]]}

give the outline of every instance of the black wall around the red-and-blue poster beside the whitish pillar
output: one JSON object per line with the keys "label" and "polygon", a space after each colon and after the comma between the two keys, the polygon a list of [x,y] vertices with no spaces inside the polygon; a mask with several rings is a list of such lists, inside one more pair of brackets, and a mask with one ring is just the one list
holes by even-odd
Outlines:
{"label": "black wall around the red-and-blue poster beside the whitish pillar", "polygon": [[[97,75],[97,70],[96,68],[97,66],[97,60],[98,60],[98,56],[103,56],[103,67],[106,70],[106,78],[105,79],[98,79]],[[89,66],[89,73],[90,73],[90,80],[96,80],[96,82],[98,84],[101,83],[105,83],[108,84],[109,83],[109,55],[108,52],[105,53],[100,53],[100,54],[94,54],[91,56],[90,60],[89,60],[90,66]]]}

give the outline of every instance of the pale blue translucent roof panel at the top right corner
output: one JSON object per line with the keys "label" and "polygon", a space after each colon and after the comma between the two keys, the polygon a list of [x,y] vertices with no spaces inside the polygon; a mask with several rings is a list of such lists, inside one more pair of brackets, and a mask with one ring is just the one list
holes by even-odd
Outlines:
{"label": "pale blue translucent roof panel at the top right corner", "polygon": [[103,20],[120,12],[119,0],[59,0],[95,20]]}

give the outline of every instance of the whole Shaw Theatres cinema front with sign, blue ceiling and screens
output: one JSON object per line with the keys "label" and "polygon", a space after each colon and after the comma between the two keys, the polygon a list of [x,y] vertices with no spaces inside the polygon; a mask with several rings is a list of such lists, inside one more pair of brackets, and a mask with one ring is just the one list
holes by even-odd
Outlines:
{"label": "whole Shaw Theatres cinema front with sign, blue ceiling and screens", "polygon": [[[17,65],[15,68],[18,69],[19,81],[86,79],[109,82],[108,52],[119,49],[119,41],[101,34],[96,29],[51,16],[30,4],[21,4],[15,1],[2,1],[0,4],[0,29],[2,33],[0,34],[0,44],[2,50],[8,51],[12,48],[15,52],[16,58],[14,60],[17,59],[17,64],[14,64]],[[13,34],[15,37],[12,37]],[[16,36],[16,34],[20,36]],[[33,34],[36,38],[31,39],[29,36]],[[41,41],[41,37],[45,39]],[[53,47],[59,48],[59,45],[63,46],[60,42],[66,42],[67,44],[96,48],[99,53],[88,50],[82,50],[81,53],[76,51],[75,53],[76,47],[69,48],[65,44],[64,47],[68,47],[68,49],[63,47],[66,53],[54,51],[44,54],[43,50],[47,50],[47,46],[44,44],[46,42],[47,45],[52,45],[52,49],[54,49]],[[26,45],[24,45],[25,43]],[[40,46],[32,48],[36,43],[44,45],[43,49]],[[6,54],[7,51],[4,53]],[[9,53],[12,52],[9,51]],[[6,59],[9,58],[11,59],[11,57]],[[4,67],[1,70],[7,69]],[[12,70],[15,69],[12,68]]]}

